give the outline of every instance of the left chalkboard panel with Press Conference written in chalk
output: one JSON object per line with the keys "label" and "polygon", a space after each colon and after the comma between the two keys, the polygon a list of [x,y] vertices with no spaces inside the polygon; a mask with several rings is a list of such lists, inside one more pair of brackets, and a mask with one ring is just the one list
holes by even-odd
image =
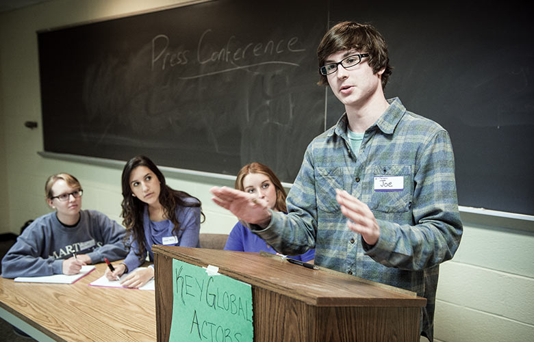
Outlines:
{"label": "left chalkboard panel with Press Conference written in chalk", "polygon": [[325,130],[327,2],[207,1],[38,32],[44,150],[292,182]]}

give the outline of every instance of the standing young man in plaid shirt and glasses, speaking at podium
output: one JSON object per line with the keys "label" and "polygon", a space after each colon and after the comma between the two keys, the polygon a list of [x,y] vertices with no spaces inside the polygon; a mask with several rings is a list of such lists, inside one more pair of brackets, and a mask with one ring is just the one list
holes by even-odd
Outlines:
{"label": "standing young man in plaid shirt and glasses, speaking at podium", "polygon": [[316,265],[424,296],[421,334],[432,341],[439,264],[463,231],[448,133],[386,100],[392,68],[374,27],[335,25],[318,61],[346,112],[307,147],[288,215],[227,187],[212,189],[214,202],[283,254],[315,247]]}

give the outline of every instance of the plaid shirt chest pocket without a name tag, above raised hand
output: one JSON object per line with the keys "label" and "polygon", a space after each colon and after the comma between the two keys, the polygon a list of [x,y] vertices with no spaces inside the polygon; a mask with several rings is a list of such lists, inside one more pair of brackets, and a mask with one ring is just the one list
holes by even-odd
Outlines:
{"label": "plaid shirt chest pocket without a name tag, above raised hand", "polygon": [[317,208],[327,213],[340,210],[340,205],[335,200],[335,189],[344,189],[340,168],[318,167],[315,176]]}

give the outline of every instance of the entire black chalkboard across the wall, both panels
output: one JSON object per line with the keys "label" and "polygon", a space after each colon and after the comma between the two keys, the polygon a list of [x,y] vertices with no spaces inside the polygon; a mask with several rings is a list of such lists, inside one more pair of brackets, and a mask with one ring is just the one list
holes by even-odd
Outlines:
{"label": "entire black chalkboard across the wall, both panels", "polygon": [[534,27],[513,1],[219,0],[42,31],[44,149],[231,175],[261,161],[291,183],[344,111],[316,85],[344,20],[385,36],[386,96],[450,133],[459,204],[534,215]]}

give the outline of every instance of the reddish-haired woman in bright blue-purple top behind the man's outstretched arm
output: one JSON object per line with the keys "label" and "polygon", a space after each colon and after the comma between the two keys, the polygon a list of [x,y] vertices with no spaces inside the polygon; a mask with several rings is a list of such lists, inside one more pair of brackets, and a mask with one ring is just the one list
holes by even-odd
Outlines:
{"label": "reddish-haired woman in bright blue-purple top behind the man's outstretched arm", "polygon": [[[236,189],[256,194],[268,202],[270,208],[274,211],[288,212],[285,207],[285,190],[283,189],[275,172],[262,163],[250,163],[239,171],[236,178]],[[249,228],[244,227],[241,222],[233,226],[226,241],[225,250],[238,250],[241,252],[256,252],[262,250],[265,252],[277,254],[277,252],[268,246],[264,239],[255,235]],[[304,254],[291,257],[300,261],[313,261],[315,250],[308,250]]]}

